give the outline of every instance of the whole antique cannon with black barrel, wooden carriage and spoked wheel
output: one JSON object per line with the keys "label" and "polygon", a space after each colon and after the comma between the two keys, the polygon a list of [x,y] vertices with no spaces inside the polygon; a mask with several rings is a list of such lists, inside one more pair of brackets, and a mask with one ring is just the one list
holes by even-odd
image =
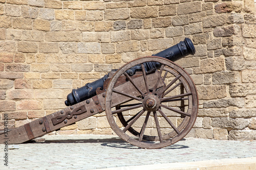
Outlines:
{"label": "whole antique cannon with black barrel, wooden carriage and spoked wheel", "polygon": [[67,96],[65,109],[0,134],[14,144],[43,136],[105,111],[113,131],[140,148],[156,149],[181,140],[198,113],[196,86],[174,61],[195,54],[189,38],[153,56],[112,70]]}

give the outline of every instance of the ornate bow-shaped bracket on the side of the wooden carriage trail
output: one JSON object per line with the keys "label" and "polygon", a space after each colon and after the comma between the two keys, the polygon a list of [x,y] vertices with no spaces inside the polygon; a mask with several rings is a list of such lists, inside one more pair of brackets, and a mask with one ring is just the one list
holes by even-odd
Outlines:
{"label": "ornate bow-shaped bracket on the side of the wooden carriage trail", "polygon": [[52,123],[53,125],[57,125],[60,124],[61,122],[63,122],[66,118],[70,119],[73,117],[73,115],[78,115],[78,114],[82,114],[84,112],[87,112],[86,110],[86,106],[82,105],[76,109],[73,108],[73,106],[70,107],[71,111],[67,111],[66,114],[62,114],[56,117],[52,118]]}

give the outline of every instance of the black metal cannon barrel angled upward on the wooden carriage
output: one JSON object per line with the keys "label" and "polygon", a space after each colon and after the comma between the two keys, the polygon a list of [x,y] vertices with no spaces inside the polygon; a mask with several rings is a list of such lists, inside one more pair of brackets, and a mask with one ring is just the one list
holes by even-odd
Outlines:
{"label": "black metal cannon barrel angled upward on the wooden carriage", "polygon": [[[179,43],[175,44],[167,48],[166,50],[154,54],[152,56],[166,58],[170,61],[177,61],[182,57],[185,57],[189,54],[194,55],[196,53],[195,47],[193,42],[189,38],[185,38],[184,41],[180,41]],[[146,62],[144,63],[145,71],[151,72],[161,65],[156,62]],[[127,70],[127,74],[130,76],[134,75],[137,70],[141,70],[140,65],[134,66]],[[70,94],[67,96],[67,101],[65,101],[66,106],[72,106],[79,102],[85,101],[89,98],[92,98],[96,95],[96,89],[98,87],[103,88],[104,81],[108,79],[109,75],[105,75],[103,78],[98,79],[92,83],[87,83],[85,86],[73,89]]]}

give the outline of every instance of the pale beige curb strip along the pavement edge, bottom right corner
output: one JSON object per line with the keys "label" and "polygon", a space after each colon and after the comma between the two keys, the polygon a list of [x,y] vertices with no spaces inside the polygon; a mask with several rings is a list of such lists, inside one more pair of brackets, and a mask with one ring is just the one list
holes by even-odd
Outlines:
{"label": "pale beige curb strip along the pavement edge, bottom right corner", "polygon": [[123,166],[113,168],[103,168],[101,170],[182,170],[182,169],[195,169],[195,170],[255,170],[256,157],[251,158],[231,158],[231,159],[217,159],[205,160],[195,162],[177,162],[177,163],[162,163],[151,165],[138,165],[138,166]]}

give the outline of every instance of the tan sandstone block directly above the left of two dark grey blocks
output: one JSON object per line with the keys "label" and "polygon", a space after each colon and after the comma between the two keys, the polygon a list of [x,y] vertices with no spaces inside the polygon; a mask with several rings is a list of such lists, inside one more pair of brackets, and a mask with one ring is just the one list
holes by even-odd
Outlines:
{"label": "tan sandstone block directly above the left of two dark grey blocks", "polygon": [[129,9],[107,9],[104,11],[105,20],[127,19],[129,17]]}

